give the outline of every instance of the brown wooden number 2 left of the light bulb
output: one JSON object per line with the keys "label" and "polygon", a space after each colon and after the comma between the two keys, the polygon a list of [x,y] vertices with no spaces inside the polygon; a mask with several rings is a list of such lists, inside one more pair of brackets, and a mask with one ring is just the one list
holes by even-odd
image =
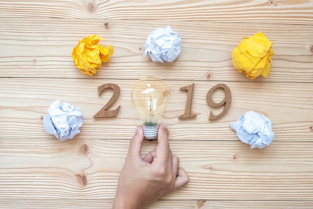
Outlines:
{"label": "brown wooden number 2 left of the light bulb", "polygon": [[111,106],[115,100],[118,98],[120,89],[116,84],[103,84],[98,86],[98,94],[101,96],[101,93],[104,89],[112,89],[113,95],[108,100],[108,102],[97,112],[93,115],[94,118],[105,118],[105,117],[114,117],[117,115],[120,105],[115,110],[106,110],[109,106]]}

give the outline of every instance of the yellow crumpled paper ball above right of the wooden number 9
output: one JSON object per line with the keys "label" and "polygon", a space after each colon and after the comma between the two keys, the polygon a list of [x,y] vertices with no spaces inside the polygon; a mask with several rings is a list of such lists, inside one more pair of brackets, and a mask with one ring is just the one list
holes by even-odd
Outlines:
{"label": "yellow crumpled paper ball above right of the wooden number 9", "polygon": [[240,73],[254,79],[259,75],[267,77],[274,52],[270,42],[261,32],[244,37],[231,52],[232,64]]}

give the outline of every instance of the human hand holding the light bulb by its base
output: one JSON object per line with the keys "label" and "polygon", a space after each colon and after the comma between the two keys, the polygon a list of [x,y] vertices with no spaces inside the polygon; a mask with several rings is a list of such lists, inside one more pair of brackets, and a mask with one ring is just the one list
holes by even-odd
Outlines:
{"label": "human hand holding the light bulb by its base", "polygon": [[189,177],[172,156],[167,129],[159,125],[157,147],[141,158],[143,131],[137,127],[130,140],[125,165],[119,179],[113,209],[142,209],[165,194],[187,184]]}

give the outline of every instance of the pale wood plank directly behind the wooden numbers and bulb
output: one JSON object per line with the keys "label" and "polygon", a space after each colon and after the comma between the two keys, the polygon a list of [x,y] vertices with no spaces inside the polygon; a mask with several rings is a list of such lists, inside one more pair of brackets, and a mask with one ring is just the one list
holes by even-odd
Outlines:
{"label": "pale wood plank directly behind the wooden numbers and bulb", "polygon": [[[130,79],[0,78],[0,138],[53,139],[54,136],[44,130],[42,118],[50,104],[59,99],[82,111],[85,120],[76,139],[129,139],[136,125],[141,124],[130,101],[134,82]],[[97,87],[105,83],[120,87],[120,96],[109,108],[121,105],[120,111],[113,118],[93,118],[112,95],[112,91],[104,90],[101,97],[98,96]],[[195,83],[192,111],[198,115],[186,119],[178,118],[184,112],[187,98],[179,89],[191,82],[166,80],[165,83],[170,98],[162,121],[168,125],[171,140],[236,141],[238,138],[229,124],[250,110],[270,119],[274,140],[313,140],[312,83],[223,82],[231,91],[232,103],[223,117],[213,121],[208,120],[209,112],[218,114],[222,108],[209,107],[206,94],[219,82],[192,82]],[[222,90],[216,90],[213,100],[222,98]]]}

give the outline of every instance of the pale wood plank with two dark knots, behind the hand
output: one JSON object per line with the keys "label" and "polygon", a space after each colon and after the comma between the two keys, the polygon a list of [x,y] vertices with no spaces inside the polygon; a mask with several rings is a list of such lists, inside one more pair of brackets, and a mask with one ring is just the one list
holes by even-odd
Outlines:
{"label": "pale wood plank with two dark knots, behind the hand", "polygon": [[[1,139],[0,196],[112,199],[129,140]],[[144,141],[142,156],[155,149]],[[190,182],[162,199],[312,200],[311,142],[170,141]],[[87,150],[87,151],[86,151]],[[84,180],[82,180],[82,177]]]}

